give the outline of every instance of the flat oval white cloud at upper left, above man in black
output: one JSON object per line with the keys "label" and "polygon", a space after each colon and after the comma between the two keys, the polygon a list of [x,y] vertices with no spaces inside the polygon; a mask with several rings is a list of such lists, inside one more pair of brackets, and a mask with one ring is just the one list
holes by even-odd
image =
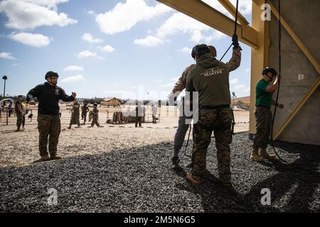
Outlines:
{"label": "flat oval white cloud at upper left, above man in black", "polygon": [[12,40],[31,45],[36,48],[41,48],[49,45],[50,39],[46,35],[33,34],[33,33],[14,33],[9,36]]}

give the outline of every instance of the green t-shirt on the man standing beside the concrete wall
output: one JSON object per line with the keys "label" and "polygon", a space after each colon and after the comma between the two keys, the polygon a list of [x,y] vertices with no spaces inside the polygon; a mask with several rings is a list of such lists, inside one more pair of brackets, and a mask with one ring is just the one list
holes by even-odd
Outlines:
{"label": "green t-shirt on the man standing beside the concrete wall", "polygon": [[255,106],[271,107],[272,104],[272,93],[266,92],[269,83],[265,79],[260,79],[255,87]]}

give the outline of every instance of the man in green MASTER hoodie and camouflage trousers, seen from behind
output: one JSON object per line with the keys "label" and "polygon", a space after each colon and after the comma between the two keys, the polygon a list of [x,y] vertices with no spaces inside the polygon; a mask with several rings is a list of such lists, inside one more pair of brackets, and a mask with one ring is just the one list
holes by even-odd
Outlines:
{"label": "man in green MASTER hoodie and camouflage trousers, seen from behind", "polygon": [[[235,38],[233,38],[235,40]],[[199,119],[193,126],[193,166],[186,178],[193,185],[201,184],[206,171],[206,153],[210,145],[212,132],[217,148],[218,172],[224,186],[231,185],[230,143],[233,113],[230,109],[229,72],[240,65],[240,46],[234,41],[234,50],[238,51],[233,64],[227,65],[209,54],[206,44],[196,45],[192,57],[196,67],[186,79],[186,91],[198,92]]]}

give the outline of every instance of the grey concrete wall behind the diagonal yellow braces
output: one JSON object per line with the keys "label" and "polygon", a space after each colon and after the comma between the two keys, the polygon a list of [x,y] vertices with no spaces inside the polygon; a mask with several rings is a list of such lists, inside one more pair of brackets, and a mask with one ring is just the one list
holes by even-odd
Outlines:
{"label": "grey concrete wall behind the diagonal yellow braces", "polygon": [[[278,9],[278,1],[272,0]],[[320,1],[319,0],[282,0],[282,18],[292,28],[315,60],[320,62]],[[278,69],[278,23],[272,14],[270,21],[269,65]],[[279,102],[284,109],[277,109],[274,132],[285,121],[287,116],[306,94],[319,77],[314,66],[306,55],[282,27],[282,81],[280,84]],[[298,80],[298,74],[304,74]],[[276,98],[274,93],[274,99]],[[272,110],[273,113],[273,110]],[[311,95],[299,113],[284,129],[279,140],[320,145],[320,88]]]}

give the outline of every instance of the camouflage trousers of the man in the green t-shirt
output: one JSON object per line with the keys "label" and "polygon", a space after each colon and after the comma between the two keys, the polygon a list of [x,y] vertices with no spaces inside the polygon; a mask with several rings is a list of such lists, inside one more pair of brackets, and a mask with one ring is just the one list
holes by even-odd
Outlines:
{"label": "camouflage trousers of the man in the green t-shirt", "polygon": [[272,125],[272,114],[269,108],[258,106],[255,109],[256,130],[255,138],[253,140],[254,148],[267,148],[268,138]]}

